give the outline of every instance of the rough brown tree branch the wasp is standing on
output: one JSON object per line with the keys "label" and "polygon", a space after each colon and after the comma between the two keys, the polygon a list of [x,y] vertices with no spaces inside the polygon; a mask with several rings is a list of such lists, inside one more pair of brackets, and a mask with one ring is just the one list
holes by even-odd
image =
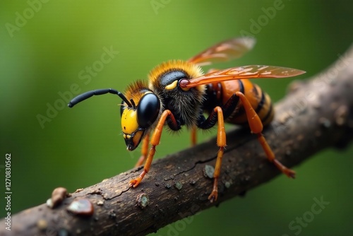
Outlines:
{"label": "rough brown tree branch the wasp is standing on", "polygon": [[[292,83],[286,98],[275,105],[275,120],[263,131],[284,165],[297,165],[330,146],[344,148],[352,140],[352,88],[353,47],[315,78]],[[230,131],[219,197],[210,203],[213,179],[207,176],[208,167],[215,165],[215,143],[213,139],[156,160],[135,189],[128,181],[141,167],[69,194],[54,209],[42,204],[17,213],[11,218],[11,231],[2,227],[0,235],[145,235],[280,175],[249,130]],[[141,201],[145,196],[147,206]],[[92,203],[92,216],[67,210],[76,199]],[[5,223],[6,219],[0,222]]]}

